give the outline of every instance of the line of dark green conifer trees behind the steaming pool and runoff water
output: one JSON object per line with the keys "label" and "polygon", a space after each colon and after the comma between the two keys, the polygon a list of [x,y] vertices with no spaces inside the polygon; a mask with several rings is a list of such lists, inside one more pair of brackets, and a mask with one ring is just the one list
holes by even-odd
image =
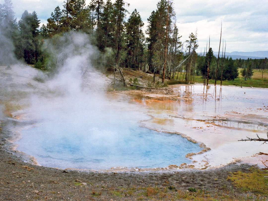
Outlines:
{"label": "line of dark green conifer trees behind the steaming pool and runoff water", "polygon": [[[217,59],[212,49],[209,48],[203,55],[196,53],[196,32],[191,32],[185,42],[180,41],[172,0],[160,0],[157,3],[157,9],[147,19],[147,37],[143,33],[144,23],[136,9],[129,13],[126,20],[128,6],[123,0],[114,3],[111,0],[91,0],[89,5],[86,5],[85,0],[65,0],[64,9],[57,6],[47,19],[47,24],[40,27],[35,11],[29,13],[25,10],[17,21],[12,1],[5,0],[0,4],[0,32],[13,43],[17,59],[40,69],[49,70],[54,65],[47,62],[50,55],[42,48],[44,41],[57,41],[66,32],[78,31],[90,36],[92,44],[101,53],[109,52],[111,56],[106,63],[107,67],[117,65],[159,73],[162,81],[173,78],[191,82],[195,75],[202,75],[204,80],[215,79]],[[237,69],[241,66],[245,68],[249,63],[252,68],[258,66],[265,69],[266,60],[265,63],[221,58],[216,79],[235,79],[238,76]]]}

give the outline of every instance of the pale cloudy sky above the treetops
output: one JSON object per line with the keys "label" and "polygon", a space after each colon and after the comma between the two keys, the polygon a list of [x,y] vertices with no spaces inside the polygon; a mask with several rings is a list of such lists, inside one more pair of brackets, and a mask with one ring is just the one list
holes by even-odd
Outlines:
{"label": "pale cloudy sky above the treetops", "polygon": [[[46,23],[55,7],[62,7],[64,0],[12,0],[17,20],[24,10],[35,12],[41,23]],[[127,10],[136,8],[145,28],[147,18],[159,0],[125,0],[130,3]],[[3,3],[4,0],[0,0]],[[87,5],[90,0],[86,0]],[[114,2],[114,0],[112,0]],[[218,51],[222,23],[222,39],[226,41],[226,52],[268,51],[268,2],[267,0],[173,0],[177,27],[181,41],[187,40],[197,29],[199,52],[209,41],[213,51]]]}

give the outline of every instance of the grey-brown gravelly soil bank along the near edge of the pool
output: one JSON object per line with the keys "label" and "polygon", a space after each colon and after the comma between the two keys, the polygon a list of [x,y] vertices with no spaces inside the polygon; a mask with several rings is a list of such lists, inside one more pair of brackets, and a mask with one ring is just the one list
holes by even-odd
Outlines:
{"label": "grey-brown gravelly soil bank along the near edge of the pool", "polygon": [[[252,200],[227,180],[249,165],[211,170],[87,172],[25,163],[0,145],[0,200]],[[196,192],[195,192],[196,191]],[[263,200],[266,200],[263,197]]]}

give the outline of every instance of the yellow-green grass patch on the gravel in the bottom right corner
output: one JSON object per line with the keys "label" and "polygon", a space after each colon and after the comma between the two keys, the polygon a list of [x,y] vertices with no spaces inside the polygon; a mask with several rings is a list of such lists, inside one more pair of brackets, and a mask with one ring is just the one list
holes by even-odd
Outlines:
{"label": "yellow-green grass patch on the gravel in the bottom right corner", "polygon": [[233,172],[227,179],[242,191],[268,195],[268,178],[265,176],[268,176],[267,170],[252,168],[249,173]]}

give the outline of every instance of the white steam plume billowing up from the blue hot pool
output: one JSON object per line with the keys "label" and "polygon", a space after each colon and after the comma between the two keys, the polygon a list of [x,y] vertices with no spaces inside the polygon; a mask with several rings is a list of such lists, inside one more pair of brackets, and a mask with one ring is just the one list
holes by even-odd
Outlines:
{"label": "white steam plume billowing up from the blue hot pool", "polygon": [[[61,43],[45,43],[46,51],[54,55],[57,70],[53,79],[44,83],[46,88],[32,97],[30,113],[38,124],[23,132],[19,150],[43,154],[47,157],[45,165],[62,163],[59,167],[65,168],[73,166],[69,162],[77,160],[77,153],[79,161],[85,163],[92,163],[87,161],[91,154],[99,154],[100,160],[104,152],[116,156],[122,135],[131,134],[129,127],[137,124],[140,114],[121,113],[121,107],[127,107],[107,99],[106,77],[92,66],[92,59],[100,55],[87,35],[70,32],[57,41]],[[40,153],[40,145],[51,155]],[[56,157],[58,164],[50,161],[51,157],[55,159],[53,152],[61,153]]]}

